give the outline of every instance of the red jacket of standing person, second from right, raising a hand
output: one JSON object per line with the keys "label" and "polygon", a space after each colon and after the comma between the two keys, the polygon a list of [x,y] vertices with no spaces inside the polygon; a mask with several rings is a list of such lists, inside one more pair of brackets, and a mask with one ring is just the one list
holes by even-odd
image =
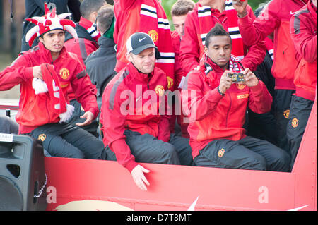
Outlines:
{"label": "red jacket of standing person, second from right, raising a hand", "polygon": [[[295,90],[293,83],[295,48],[290,39],[290,18],[308,0],[273,0],[254,20],[249,16],[239,18],[239,28],[245,44],[255,44],[274,32],[274,60],[271,72],[276,89]],[[254,21],[253,21],[254,20]]]}

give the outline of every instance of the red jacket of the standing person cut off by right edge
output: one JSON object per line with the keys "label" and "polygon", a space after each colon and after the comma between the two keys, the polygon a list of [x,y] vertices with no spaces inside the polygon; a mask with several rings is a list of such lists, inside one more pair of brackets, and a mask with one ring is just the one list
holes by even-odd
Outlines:
{"label": "red jacket of the standing person cut off by right edge", "polygon": [[296,95],[314,101],[317,85],[317,8],[311,1],[291,18],[290,35],[301,57],[294,78]]}

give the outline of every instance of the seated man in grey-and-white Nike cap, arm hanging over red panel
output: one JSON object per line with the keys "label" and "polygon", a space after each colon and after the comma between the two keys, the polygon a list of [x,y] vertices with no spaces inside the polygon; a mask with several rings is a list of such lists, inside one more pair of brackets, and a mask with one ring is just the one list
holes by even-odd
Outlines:
{"label": "seated man in grey-and-white Nike cap, arm hanging over red panel", "polygon": [[[136,186],[147,190],[137,162],[192,164],[187,138],[170,135],[165,113],[168,90],[165,73],[155,67],[155,44],[137,32],[127,40],[127,64],[108,83],[102,95],[100,121],[107,146],[107,159],[116,160],[131,172]],[[112,152],[116,155],[112,155]]]}

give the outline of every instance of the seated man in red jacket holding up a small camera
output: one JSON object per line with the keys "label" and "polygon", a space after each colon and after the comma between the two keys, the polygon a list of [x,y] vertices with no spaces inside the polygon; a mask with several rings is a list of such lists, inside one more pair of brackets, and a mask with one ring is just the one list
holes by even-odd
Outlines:
{"label": "seated man in red jacket holding up a small camera", "polygon": [[[264,83],[231,56],[231,37],[222,25],[208,32],[204,52],[199,71],[191,71],[182,87],[182,102],[191,112],[188,131],[196,166],[288,171],[287,152],[245,135],[247,107],[265,113],[272,98]],[[244,74],[244,80],[234,83],[229,76],[234,72]]]}

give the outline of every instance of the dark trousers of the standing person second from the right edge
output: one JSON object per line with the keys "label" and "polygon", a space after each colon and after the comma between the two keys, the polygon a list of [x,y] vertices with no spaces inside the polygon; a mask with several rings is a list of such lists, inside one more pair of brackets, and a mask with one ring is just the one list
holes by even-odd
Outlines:
{"label": "dark trousers of the standing person second from the right edge", "polygon": [[276,117],[276,131],[278,147],[290,154],[290,146],[288,144],[286,127],[290,113],[290,102],[295,90],[275,90],[273,97],[273,109]]}

